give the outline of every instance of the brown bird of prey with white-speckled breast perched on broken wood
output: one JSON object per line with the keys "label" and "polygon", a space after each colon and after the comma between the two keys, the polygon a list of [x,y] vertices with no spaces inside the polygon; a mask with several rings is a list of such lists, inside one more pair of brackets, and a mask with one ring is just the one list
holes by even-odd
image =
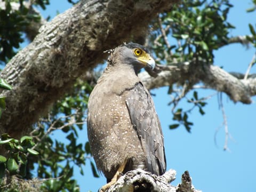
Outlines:
{"label": "brown bird of prey with white-speckled breast perched on broken wood", "polygon": [[108,63],[88,103],[87,133],[98,170],[113,185],[120,174],[142,169],[166,171],[161,125],[139,70],[155,61],[142,45],[127,43],[110,51]]}

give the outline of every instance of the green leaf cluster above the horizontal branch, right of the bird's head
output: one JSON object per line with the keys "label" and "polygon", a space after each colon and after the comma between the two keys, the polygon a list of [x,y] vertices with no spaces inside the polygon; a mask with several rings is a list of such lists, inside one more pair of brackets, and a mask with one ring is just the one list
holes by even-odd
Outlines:
{"label": "green leaf cluster above the horizontal branch, right of the bird's head", "polygon": [[[172,45],[167,45],[164,37],[158,38],[153,46],[157,57],[165,63],[195,58],[213,62],[213,50],[228,43],[229,30],[234,28],[227,21],[232,6],[227,0],[186,0],[162,14],[158,24],[166,30]],[[155,32],[157,35],[162,35],[159,29]],[[167,57],[163,54],[165,51],[169,53]]]}

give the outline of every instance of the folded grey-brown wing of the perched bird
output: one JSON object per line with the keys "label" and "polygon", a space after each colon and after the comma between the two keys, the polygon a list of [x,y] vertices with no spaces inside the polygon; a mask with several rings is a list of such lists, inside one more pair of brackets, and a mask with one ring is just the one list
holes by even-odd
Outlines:
{"label": "folded grey-brown wing of the perched bird", "polygon": [[141,82],[129,91],[126,106],[146,155],[148,171],[162,175],[166,170],[163,133],[150,93]]}

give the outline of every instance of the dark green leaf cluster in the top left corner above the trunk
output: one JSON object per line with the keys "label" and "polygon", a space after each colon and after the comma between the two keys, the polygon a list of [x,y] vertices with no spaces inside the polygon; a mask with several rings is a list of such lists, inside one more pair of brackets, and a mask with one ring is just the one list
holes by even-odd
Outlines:
{"label": "dark green leaf cluster in the top left corner above the trunk", "polygon": [[[29,7],[23,5],[24,0],[5,0],[5,7],[0,8],[0,62],[7,63],[19,49],[20,43],[24,42],[23,32],[31,22],[39,22],[38,13],[31,13]],[[12,3],[19,4],[14,9]],[[40,5],[45,9],[48,0],[34,1],[34,5]],[[32,5],[31,5],[32,6]]]}

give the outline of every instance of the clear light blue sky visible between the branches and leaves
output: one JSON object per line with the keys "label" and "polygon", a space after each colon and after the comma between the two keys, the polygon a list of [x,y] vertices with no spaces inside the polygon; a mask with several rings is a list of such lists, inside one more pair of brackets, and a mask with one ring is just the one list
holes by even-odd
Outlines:
{"label": "clear light blue sky visible between the branches and leaves", "polygon": [[[246,13],[246,9],[252,6],[251,1],[230,1],[234,5],[228,15],[228,21],[236,29],[231,30],[231,35],[249,34],[248,23],[255,26],[256,13]],[[51,5],[43,12],[44,17],[62,13],[71,5],[62,0],[51,1]],[[215,51],[214,65],[222,66],[227,71],[245,73],[255,49],[247,49],[241,45],[230,45]],[[255,67],[251,70],[256,73]],[[194,122],[191,133],[182,126],[175,130],[169,130],[172,124],[171,107],[167,103],[171,101],[167,95],[167,87],[152,90],[156,94],[154,102],[159,115],[165,137],[165,151],[167,170],[177,171],[177,179],[172,183],[180,182],[181,174],[188,170],[193,184],[203,191],[256,191],[254,172],[256,171],[256,127],[255,127],[255,97],[251,105],[234,103],[225,94],[222,94],[223,106],[227,115],[229,133],[228,147],[230,151],[223,151],[225,143],[225,130],[221,126],[223,117],[218,105],[217,96],[212,97],[204,108],[205,115],[201,116],[196,110],[190,114],[190,121]],[[199,97],[215,93],[214,90],[200,90]],[[191,95],[192,93],[190,93]],[[188,108],[186,102],[181,102],[180,107]],[[217,129],[219,130],[216,134]],[[214,142],[216,134],[217,145]],[[79,133],[79,141],[87,141],[86,129]],[[97,191],[106,183],[106,179],[93,178],[90,162],[84,167],[85,175],[82,176],[75,169],[74,178],[78,180],[81,191]]]}

